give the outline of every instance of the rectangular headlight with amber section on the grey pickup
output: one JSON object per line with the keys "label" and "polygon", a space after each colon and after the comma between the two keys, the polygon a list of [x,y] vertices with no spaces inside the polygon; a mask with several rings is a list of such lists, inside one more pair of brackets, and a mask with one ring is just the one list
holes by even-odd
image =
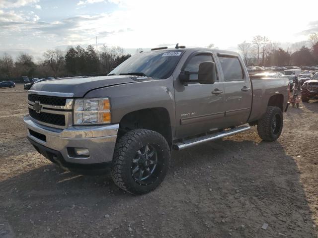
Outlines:
{"label": "rectangular headlight with amber section on the grey pickup", "polygon": [[111,122],[109,98],[76,99],[74,124],[105,124]]}

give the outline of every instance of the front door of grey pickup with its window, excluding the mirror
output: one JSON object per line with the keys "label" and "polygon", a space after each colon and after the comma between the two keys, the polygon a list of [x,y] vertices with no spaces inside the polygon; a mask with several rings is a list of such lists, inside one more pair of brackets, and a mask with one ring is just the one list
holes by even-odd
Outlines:
{"label": "front door of grey pickup with its window, excluding the mirror", "polygon": [[[189,56],[181,71],[198,72],[200,63],[206,61],[215,62],[211,52],[195,52]],[[190,80],[198,80],[198,75],[191,74]],[[218,76],[214,84],[190,82],[183,85],[177,80],[174,92],[178,138],[222,128],[225,111],[221,77]]]}

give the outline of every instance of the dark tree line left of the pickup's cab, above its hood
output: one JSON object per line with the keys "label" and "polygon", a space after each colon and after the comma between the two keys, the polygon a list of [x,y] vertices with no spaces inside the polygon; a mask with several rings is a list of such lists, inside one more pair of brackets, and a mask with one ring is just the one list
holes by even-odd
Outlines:
{"label": "dark tree line left of the pickup's cab, above its hood", "polygon": [[91,45],[69,47],[66,52],[59,49],[47,50],[43,60],[35,62],[27,53],[21,53],[16,60],[4,53],[0,57],[0,78],[74,76],[106,74],[131,57],[121,47],[100,47],[96,52]]}

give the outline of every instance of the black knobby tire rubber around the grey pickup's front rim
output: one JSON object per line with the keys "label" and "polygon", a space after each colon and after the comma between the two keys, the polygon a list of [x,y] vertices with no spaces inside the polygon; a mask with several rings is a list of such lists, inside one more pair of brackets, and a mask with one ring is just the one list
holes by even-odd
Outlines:
{"label": "black knobby tire rubber around the grey pickup's front rim", "polygon": [[[158,153],[158,171],[149,184],[141,184],[132,175],[133,159],[142,146],[147,144],[156,147]],[[165,138],[156,131],[134,129],[124,134],[117,142],[112,161],[111,177],[121,189],[132,194],[145,194],[156,187],[164,179],[170,166],[170,148]],[[156,178],[157,177],[157,178]]]}

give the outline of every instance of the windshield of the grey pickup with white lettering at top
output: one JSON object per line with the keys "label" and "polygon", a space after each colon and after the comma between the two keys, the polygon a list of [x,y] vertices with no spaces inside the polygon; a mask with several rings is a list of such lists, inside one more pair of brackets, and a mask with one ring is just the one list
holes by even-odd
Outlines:
{"label": "windshield of the grey pickup with white lettering at top", "polygon": [[121,63],[108,75],[146,75],[154,79],[168,78],[184,51],[152,51],[139,53]]}

